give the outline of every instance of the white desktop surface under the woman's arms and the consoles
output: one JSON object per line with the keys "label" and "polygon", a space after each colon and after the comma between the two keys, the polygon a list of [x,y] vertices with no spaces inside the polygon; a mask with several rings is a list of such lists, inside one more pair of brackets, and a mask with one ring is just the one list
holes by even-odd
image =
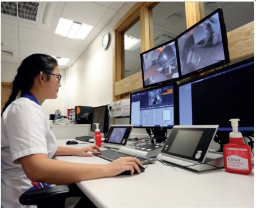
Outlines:
{"label": "white desktop surface under the woman's arms and the consoles", "polygon": [[[57,142],[65,145],[66,139]],[[92,144],[66,146],[88,145]],[[57,159],[109,163],[95,156]],[[250,175],[228,173],[224,169],[197,173],[157,161],[138,175],[93,179],[78,182],[77,186],[97,207],[254,207],[254,170]]]}

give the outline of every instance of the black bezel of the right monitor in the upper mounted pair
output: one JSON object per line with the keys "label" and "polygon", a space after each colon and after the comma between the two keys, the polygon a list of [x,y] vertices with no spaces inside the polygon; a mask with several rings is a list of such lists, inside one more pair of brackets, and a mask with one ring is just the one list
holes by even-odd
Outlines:
{"label": "black bezel of the right monitor in the upper mounted pair", "polygon": [[[188,32],[190,32],[191,30],[193,30],[193,28],[196,28],[201,23],[205,22],[205,20],[209,19],[211,16],[213,16],[216,13],[219,15],[219,23],[220,23],[220,31],[221,31],[221,34],[222,34],[224,60],[218,61],[217,63],[210,64],[208,66],[205,66],[205,67],[202,67],[200,69],[194,70],[193,72],[190,72],[190,73],[182,75],[182,67],[181,67],[181,59],[180,59],[181,54],[180,54],[180,51],[179,51],[179,43],[178,43],[179,38],[184,36],[184,34],[187,34]],[[193,75],[196,75],[198,73],[205,72],[206,70],[214,69],[216,67],[223,66],[224,64],[228,64],[230,62],[229,50],[228,50],[228,36],[227,36],[227,33],[226,33],[226,25],[225,25],[225,21],[224,21],[224,16],[223,16],[222,8],[217,8],[217,10],[215,10],[212,13],[208,14],[206,17],[201,19],[199,22],[194,24],[192,27],[188,28],[183,33],[179,34],[179,36],[176,37],[176,49],[178,50],[178,54],[177,55],[178,55],[179,69],[181,70],[181,74],[180,74],[181,80],[184,79],[184,78],[187,78],[189,76],[193,76]]]}

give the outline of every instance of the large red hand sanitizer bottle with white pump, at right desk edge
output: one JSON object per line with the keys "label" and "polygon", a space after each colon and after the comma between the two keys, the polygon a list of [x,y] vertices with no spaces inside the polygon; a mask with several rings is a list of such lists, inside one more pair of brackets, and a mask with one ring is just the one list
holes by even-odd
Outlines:
{"label": "large red hand sanitizer bottle with white pump, at right desk edge", "polygon": [[250,174],[252,172],[251,148],[246,145],[242,133],[238,132],[239,119],[231,119],[232,132],[229,143],[223,147],[224,167],[227,172]]}

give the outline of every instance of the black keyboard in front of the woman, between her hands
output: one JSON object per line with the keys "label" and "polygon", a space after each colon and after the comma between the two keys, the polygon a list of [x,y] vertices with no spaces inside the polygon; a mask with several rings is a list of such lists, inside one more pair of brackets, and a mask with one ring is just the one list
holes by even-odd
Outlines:
{"label": "black keyboard in front of the woman, between her hands", "polygon": [[136,157],[138,158],[139,161],[141,161],[142,164],[147,164],[147,163],[154,163],[155,159],[153,158],[148,158],[148,157],[143,157],[139,155],[133,155],[133,154],[127,154],[126,152],[121,152],[118,151],[117,149],[106,149],[106,150],[101,150],[100,154],[95,154],[95,156],[101,157],[105,160],[108,161],[114,161],[117,160],[120,157]]}

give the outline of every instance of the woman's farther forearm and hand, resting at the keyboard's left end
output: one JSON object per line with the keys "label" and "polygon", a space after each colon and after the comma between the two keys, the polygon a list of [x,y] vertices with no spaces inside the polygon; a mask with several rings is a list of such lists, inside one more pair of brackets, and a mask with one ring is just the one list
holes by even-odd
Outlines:
{"label": "woman's farther forearm and hand, resting at the keyboard's left end", "polygon": [[96,154],[99,154],[100,148],[98,148],[98,146],[96,145],[87,146],[85,148],[69,148],[66,146],[58,146],[54,156],[63,156],[63,155],[92,156],[92,154],[88,152],[94,152]]}

